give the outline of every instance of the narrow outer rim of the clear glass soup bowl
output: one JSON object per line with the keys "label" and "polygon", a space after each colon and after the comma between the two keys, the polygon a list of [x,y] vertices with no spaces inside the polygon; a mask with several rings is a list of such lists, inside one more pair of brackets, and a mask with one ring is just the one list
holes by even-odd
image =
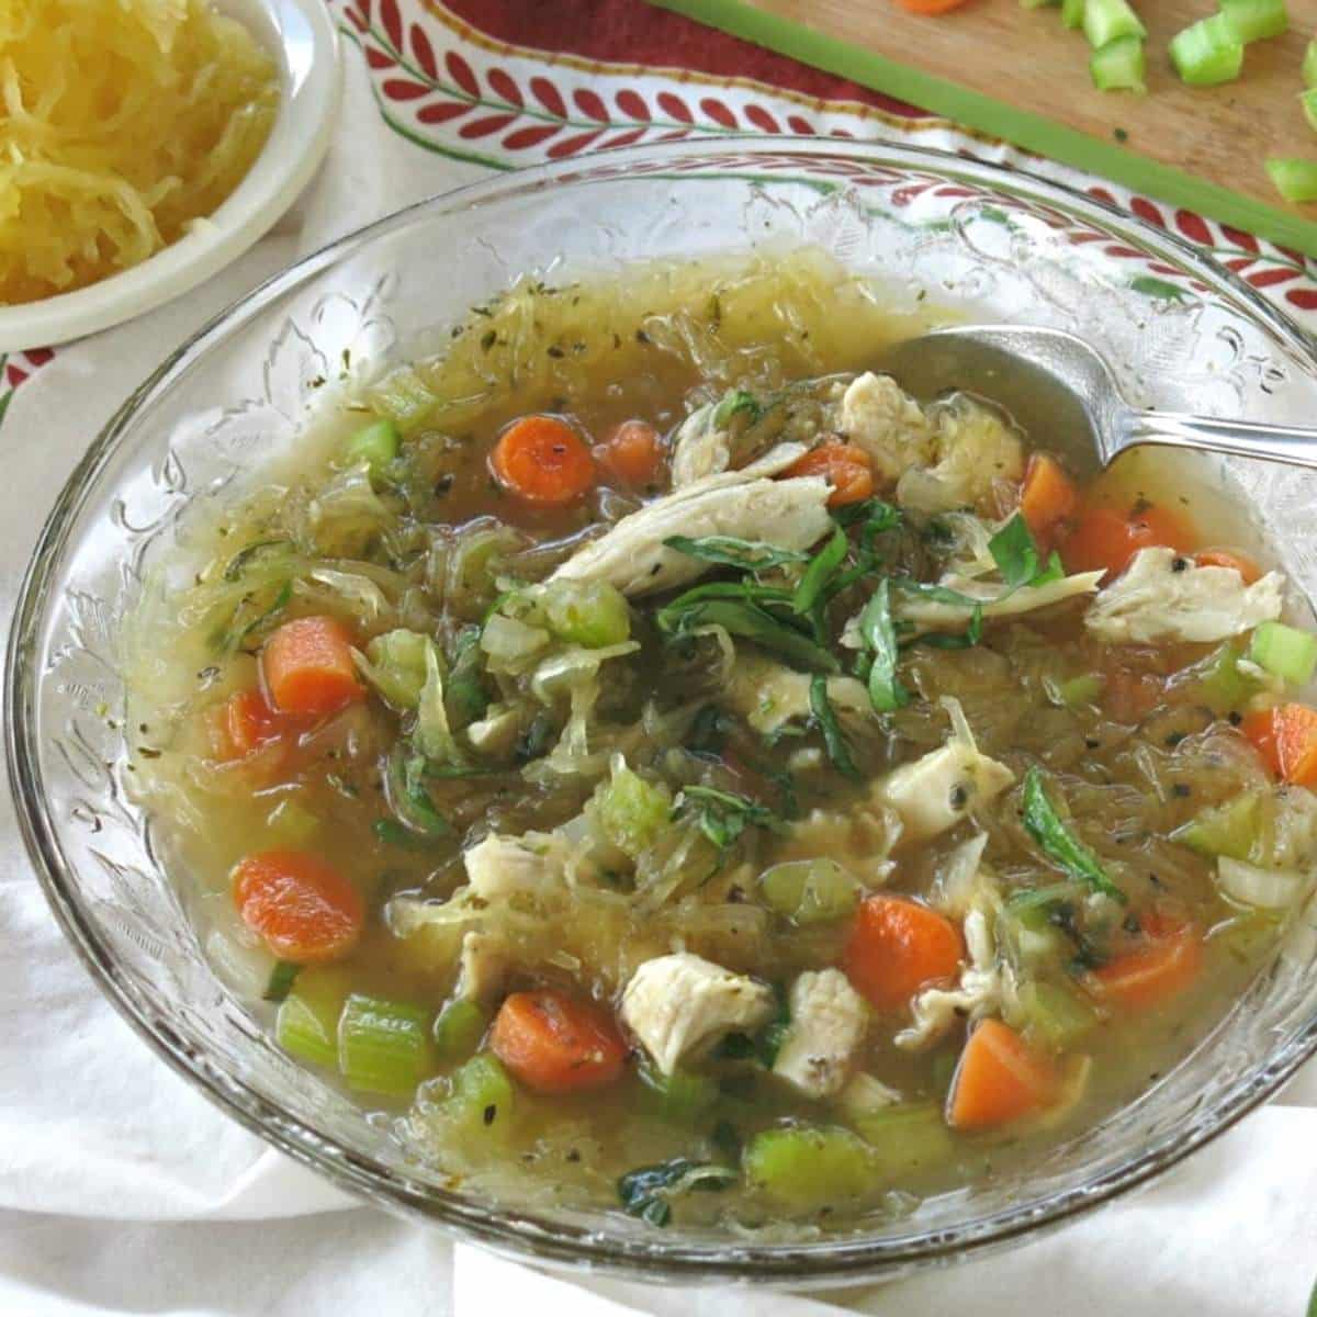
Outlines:
{"label": "narrow outer rim of the clear glass soup bowl", "polygon": [[[497,204],[502,196],[522,194],[528,186],[556,188],[631,174],[660,174],[674,183],[684,179],[691,183],[706,182],[734,173],[731,167],[723,174],[711,171],[719,162],[732,165],[743,162],[745,157],[784,163],[784,171],[774,175],[774,179],[782,182],[792,182],[792,161],[799,161],[803,170],[835,161],[839,165],[851,162],[865,167],[921,173],[948,183],[968,183],[997,195],[1042,203],[1063,216],[1090,224],[1115,240],[1123,238],[1141,252],[1164,258],[1184,270],[1241,309],[1254,324],[1264,328],[1309,378],[1317,379],[1317,346],[1313,340],[1247,283],[1216,265],[1187,241],[1063,184],[947,151],[882,142],[730,137],[719,138],[716,144],[682,141],[628,148],[583,161],[537,166],[477,182],[395,212],[275,275],[212,319],[133,391],[91,444],[61,491],[20,587],[7,656],[5,749],[24,842],[51,910],[76,954],[129,1025],[175,1071],[261,1138],[370,1202],[412,1218],[440,1223],[462,1238],[524,1260],[618,1272],[632,1279],[820,1285],[896,1276],[957,1256],[981,1255],[1056,1226],[1146,1183],[1216,1138],[1275,1093],[1317,1051],[1317,1017],[1306,1019],[1288,1044],[1252,1065],[1209,1112],[1188,1122],[1177,1133],[1148,1144],[1106,1173],[1090,1176],[1048,1197],[1025,1201],[955,1229],[880,1239],[851,1238],[785,1245],[702,1246],[669,1242],[662,1235],[644,1241],[622,1239],[569,1225],[548,1213],[487,1206],[412,1180],[327,1138],[249,1087],[240,1075],[216,1064],[204,1047],[163,1018],[149,994],[124,972],[113,948],[83,909],[74,867],[65,853],[59,828],[46,802],[36,744],[36,698],[41,678],[32,660],[50,603],[53,582],[70,552],[70,529],[137,414],[179,379],[208,348],[241,331],[250,317],[304,281],[427,212],[446,215],[464,208]],[[705,173],[698,176],[680,173],[682,165],[693,161]],[[669,169],[674,173],[665,174]],[[836,182],[844,184],[846,179],[838,178]]]}

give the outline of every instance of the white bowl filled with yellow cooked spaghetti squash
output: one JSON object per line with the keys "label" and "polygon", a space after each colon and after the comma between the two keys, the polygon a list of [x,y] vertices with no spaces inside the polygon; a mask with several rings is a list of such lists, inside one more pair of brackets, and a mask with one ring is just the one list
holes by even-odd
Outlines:
{"label": "white bowl filled with yellow cooked spaghetti squash", "polygon": [[320,163],[337,91],[320,0],[0,0],[0,352],[233,261]]}

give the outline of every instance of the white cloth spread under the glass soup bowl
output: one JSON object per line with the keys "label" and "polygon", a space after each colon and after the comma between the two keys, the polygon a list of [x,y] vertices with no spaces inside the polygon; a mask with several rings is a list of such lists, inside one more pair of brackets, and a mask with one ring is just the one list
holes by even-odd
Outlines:
{"label": "white cloth spread under the glass soup bowl", "polygon": [[[14,395],[0,428],[5,616],[40,519],[84,443],[169,345],[298,254],[482,175],[387,129],[358,53],[346,54],[338,141],[277,232],[182,302],[61,349]],[[774,104],[769,94],[760,101]],[[848,122],[844,111],[832,119]],[[872,133],[868,124],[849,126]],[[223,1117],[133,1036],[65,946],[8,793],[0,857],[3,1317],[1304,1312],[1317,1271],[1312,1068],[1283,1098],[1288,1105],[1255,1114],[1151,1191],[972,1266],[810,1299],[551,1277],[357,1206]]]}

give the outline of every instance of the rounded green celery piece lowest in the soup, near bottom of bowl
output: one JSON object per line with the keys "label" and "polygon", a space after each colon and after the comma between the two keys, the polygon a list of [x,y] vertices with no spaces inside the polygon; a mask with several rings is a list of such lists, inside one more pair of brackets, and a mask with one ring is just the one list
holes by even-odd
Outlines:
{"label": "rounded green celery piece lowest in the soup, near bottom of bowl", "polygon": [[802,1212],[851,1204],[876,1188],[872,1150],[835,1125],[764,1130],[745,1144],[741,1168],[766,1197]]}

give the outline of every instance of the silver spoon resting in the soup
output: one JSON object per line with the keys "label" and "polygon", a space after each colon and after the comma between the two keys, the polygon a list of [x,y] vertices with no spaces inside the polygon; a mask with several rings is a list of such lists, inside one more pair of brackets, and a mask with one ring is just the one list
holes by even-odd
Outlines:
{"label": "silver spoon resting in the soup", "polygon": [[1046,436],[1044,446],[1059,450],[1079,475],[1141,444],[1317,466],[1317,429],[1131,407],[1106,361],[1060,329],[936,329],[893,344],[877,369],[922,400],[960,390],[1004,407],[1035,443]]}

